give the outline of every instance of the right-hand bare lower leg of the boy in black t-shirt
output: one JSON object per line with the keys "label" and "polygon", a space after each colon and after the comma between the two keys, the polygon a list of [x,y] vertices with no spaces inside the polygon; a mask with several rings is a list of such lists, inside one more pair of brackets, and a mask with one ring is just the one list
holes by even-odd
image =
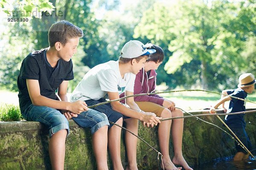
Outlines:
{"label": "right-hand bare lower leg of the boy in black t-shirt", "polygon": [[97,170],[108,170],[107,147],[108,126],[103,126],[93,134],[93,151]]}

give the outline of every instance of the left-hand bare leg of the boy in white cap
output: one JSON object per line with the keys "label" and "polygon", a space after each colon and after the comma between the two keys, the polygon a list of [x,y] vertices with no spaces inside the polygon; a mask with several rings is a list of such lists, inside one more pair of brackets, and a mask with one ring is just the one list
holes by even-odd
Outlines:
{"label": "left-hand bare leg of the boy in white cap", "polygon": [[[122,118],[115,122],[116,124],[122,126]],[[113,169],[114,170],[123,170],[121,162],[121,153],[120,153],[120,142],[121,142],[121,128],[113,125],[108,130],[108,148],[110,151]]]}

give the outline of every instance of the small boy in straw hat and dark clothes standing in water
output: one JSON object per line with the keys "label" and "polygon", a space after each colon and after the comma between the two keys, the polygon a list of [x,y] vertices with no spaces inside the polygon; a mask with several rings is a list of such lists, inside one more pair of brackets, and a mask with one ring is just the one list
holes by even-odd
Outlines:
{"label": "small boy in straw hat and dark clothes standing in water", "polygon": [[[234,90],[231,89],[222,91],[221,99],[218,100],[217,104],[214,107],[211,107],[209,112],[216,113],[215,109],[217,109],[219,105],[222,105],[222,108],[225,113],[245,111],[244,100],[236,99],[230,96],[245,99],[247,94],[253,93],[255,83],[256,82],[253,77],[253,74],[242,74],[239,77],[239,85],[237,85],[238,88]],[[224,103],[229,100],[230,105],[229,109],[227,110],[226,108],[224,108]],[[236,134],[236,136],[241,140],[241,142],[248,148],[248,150],[251,150],[252,144],[245,131],[246,123],[244,121],[244,114],[226,115],[225,122],[230,127],[230,129]],[[247,152],[238,144],[235,145],[237,153],[234,156],[234,161],[241,161],[243,159],[247,159],[249,154],[247,154]]]}

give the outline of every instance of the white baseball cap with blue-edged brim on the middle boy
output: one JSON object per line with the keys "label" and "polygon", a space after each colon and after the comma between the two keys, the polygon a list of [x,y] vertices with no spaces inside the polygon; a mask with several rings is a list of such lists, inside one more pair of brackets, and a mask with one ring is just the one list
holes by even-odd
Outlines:
{"label": "white baseball cap with blue-edged brim on the middle boy", "polygon": [[150,55],[155,52],[155,49],[147,49],[145,45],[138,40],[130,40],[125,43],[120,55],[123,58],[136,58],[144,55]]}

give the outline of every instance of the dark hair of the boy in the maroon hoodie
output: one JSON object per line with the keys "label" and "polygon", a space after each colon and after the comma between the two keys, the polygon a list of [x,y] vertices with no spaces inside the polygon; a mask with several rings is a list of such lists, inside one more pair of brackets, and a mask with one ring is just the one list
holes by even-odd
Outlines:
{"label": "dark hair of the boy in the maroon hoodie", "polygon": [[155,49],[156,50],[156,52],[154,54],[150,55],[150,58],[147,59],[147,62],[148,61],[154,61],[155,63],[157,63],[157,62],[162,62],[163,61],[164,52],[163,52],[163,49],[161,47],[159,47],[158,45],[151,44],[151,43],[145,44],[145,47],[147,49]]}

